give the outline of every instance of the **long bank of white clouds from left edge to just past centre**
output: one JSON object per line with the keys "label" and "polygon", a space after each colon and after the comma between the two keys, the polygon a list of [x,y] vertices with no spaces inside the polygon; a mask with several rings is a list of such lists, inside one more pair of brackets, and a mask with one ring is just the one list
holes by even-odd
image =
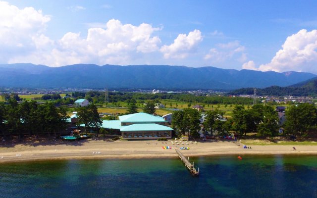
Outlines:
{"label": "long bank of white clouds from left edge to just past centre", "polygon": [[[82,6],[70,8],[85,9]],[[49,66],[144,63],[159,55],[165,59],[185,58],[194,53],[203,40],[201,32],[194,30],[188,35],[179,34],[172,44],[162,46],[155,35],[162,26],[122,24],[116,19],[90,26],[87,36],[66,32],[60,39],[51,40],[46,35],[50,20],[51,16],[43,14],[42,10],[18,8],[0,1],[0,62]]]}

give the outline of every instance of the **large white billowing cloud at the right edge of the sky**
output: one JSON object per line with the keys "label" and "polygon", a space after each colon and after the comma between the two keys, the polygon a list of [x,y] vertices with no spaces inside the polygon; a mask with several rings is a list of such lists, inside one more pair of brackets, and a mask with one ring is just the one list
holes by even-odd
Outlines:
{"label": "large white billowing cloud at the right edge of the sky", "polygon": [[287,37],[272,60],[262,64],[261,71],[305,71],[317,73],[317,30],[300,30]]}

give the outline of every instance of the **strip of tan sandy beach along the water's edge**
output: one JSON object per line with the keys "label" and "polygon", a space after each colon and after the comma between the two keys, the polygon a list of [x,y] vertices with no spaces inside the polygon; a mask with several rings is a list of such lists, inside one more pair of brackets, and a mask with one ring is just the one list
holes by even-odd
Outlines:
{"label": "strip of tan sandy beach along the water's edge", "polygon": [[[172,149],[163,149],[171,146]],[[103,141],[83,140],[78,142],[31,141],[19,144],[1,145],[0,163],[13,161],[34,161],[54,159],[93,158],[154,158],[178,157],[175,148],[185,156],[246,155],[246,154],[317,154],[317,146],[267,145],[243,148],[239,142],[210,141],[189,145],[172,145],[171,141]]]}

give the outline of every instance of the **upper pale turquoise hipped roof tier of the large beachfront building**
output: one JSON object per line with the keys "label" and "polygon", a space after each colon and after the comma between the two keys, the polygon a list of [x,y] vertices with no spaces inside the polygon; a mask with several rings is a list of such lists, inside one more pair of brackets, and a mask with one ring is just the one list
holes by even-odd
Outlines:
{"label": "upper pale turquoise hipped roof tier of the large beachfront building", "polygon": [[164,118],[144,112],[119,116],[121,122],[167,122]]}

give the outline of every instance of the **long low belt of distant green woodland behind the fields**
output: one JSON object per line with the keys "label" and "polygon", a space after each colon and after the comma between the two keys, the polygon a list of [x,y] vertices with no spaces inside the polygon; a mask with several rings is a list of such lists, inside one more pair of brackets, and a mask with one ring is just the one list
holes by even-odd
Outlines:
{"label": "long low belt of distant green woodland behind the fields", "polygon": [[[94,103],[104,103],[105,93],[90,91],[86,94],[73,93],[74,96],[81,96]],[[84,96],[83,96],[84,95]],[[252,104],[253,99],[241,97],[226,97],[226,96],[195,96],[193,94],[145,94],[145,93],[124,93],[124,92],[109,92],[109,102],[135,102],[136,100],[144,103],[145,100],[171,99],[188,103],[207,103],[207,104]]]}

